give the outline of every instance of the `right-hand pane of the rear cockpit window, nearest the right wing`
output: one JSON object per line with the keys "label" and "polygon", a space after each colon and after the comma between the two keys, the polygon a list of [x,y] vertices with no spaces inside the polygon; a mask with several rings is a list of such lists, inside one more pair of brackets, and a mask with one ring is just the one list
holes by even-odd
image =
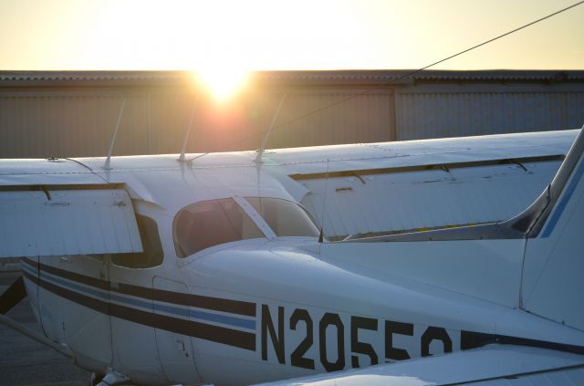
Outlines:
{"label": "right-hand pane of the rear cockpit window, nearest the right wing", "polygon": [[245,197],[276,236],[318,237],[318,228],[297,203],[268,197]]}

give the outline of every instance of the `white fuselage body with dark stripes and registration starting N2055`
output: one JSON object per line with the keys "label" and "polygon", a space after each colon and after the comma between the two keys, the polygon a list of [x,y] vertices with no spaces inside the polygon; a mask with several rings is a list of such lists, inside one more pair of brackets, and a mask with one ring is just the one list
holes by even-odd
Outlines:
{"label": "white fuselage body with dark stripes and registration starting N2055", "polygon": [[[109,256],[22,265],[49,338],[67,344],[82,367],[112,367],[144,384],[257,383],[506,339],[551,346],[584,339],[445,283],[412,280],[387,245],[381,254],[360,245],[370,255],[349,263],[336,258],[334,246],[318,253],[315,241],[239,242],[139,275],[123,272]],[[434,248],[440,256],[447,245]],[[367,267],[376,253],[386,261],[379,270]],[[392,264],[395,274],[385,273]],[[87,275],[89,265],[95,276]]]}

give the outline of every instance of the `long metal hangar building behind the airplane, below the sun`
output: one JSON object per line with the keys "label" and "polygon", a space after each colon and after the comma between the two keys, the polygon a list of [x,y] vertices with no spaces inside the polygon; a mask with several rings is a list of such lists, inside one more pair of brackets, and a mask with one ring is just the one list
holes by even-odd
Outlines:
{"label": "long metal hangar building behind the airplane, below the sun", "polygon": [[217,102],[188,71],[0,71],[0,158],[405,141],[577,129],[584,70],[260,71]]}

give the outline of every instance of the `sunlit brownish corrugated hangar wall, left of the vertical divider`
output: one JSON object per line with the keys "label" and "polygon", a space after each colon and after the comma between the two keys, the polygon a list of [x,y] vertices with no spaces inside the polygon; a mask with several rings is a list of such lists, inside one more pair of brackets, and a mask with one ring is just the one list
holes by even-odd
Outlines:
{"label": "sunlit brownish corrugated hangar wall, left of the vertical divider", "polygon": [[[295,120],[349,92],[287,95],[267,147],[395,140],[391,94],[371,94]],[[0,97],[0,157],[45,158],[106,155],[126,107],[114,155],[176,153],[182,148],[193,93],[156,90],[126,97],[95,93]],[[281,94],[245,94],[228,104],[199,99],[187,151],[257,149]]]}

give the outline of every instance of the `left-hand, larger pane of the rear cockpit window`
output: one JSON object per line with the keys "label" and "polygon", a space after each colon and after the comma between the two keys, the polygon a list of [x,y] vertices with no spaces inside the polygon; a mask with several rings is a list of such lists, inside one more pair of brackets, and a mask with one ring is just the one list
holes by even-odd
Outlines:
{"label": "left-hand, larger pane of the rear cockpit window", "polygon": [[231,198],[184,207],[174,217],[172,234],[179,257],[191,256],[213,245],[265,237]]}

